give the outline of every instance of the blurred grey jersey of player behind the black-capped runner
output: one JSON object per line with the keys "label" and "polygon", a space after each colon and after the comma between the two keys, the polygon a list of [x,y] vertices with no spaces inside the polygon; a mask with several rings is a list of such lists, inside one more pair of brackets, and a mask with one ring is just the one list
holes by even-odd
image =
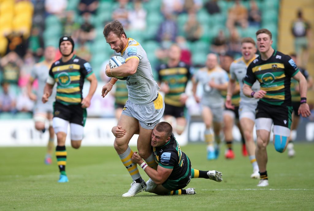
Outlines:
{"label": "blurred grey jersey of player behind the black-capped runner", "polygon": [[[50,64],[47,64],[46,62],[39,62],[35,64],[34,68],[32,69],[30,76],[32,77],[33,80],[38,79],[38,90],[36,92],[37,95],[37,101],[36,104],[41,103],[41,97],[44,94],[44,88],[46,85],[46,81],[49,75],[49,69],[50,69]],[[48,102],[46,104],[51,104],[55,101],[56,98],[56,86],[53,87],[51,96],[48,99]]]}

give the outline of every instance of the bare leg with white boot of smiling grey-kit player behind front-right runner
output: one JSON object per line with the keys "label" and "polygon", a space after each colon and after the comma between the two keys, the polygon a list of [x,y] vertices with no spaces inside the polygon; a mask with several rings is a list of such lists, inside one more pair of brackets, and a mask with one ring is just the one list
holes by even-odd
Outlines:
{"label": "bare leg with white boot of smiling grey-kit player behind front-right runner", "polygon": [[[241,128],[243,130],[244,133],[244,139],[246,142],[246,149],[247,149],[247,153],[249,155],[249,159],[250,162],[252,164],[253,167],[253,174],[251,175],[251,178],[259,178],[259,169],[258,169],[258,165],[257,165],[257,161],[255,158],[255,150],[256,150],[256,146],[255,146],[255,142],[253,140],[253,128],[254,128],[254,120],[255,119],[255,115],[252,113],[248,114],[252,114],[252,117],[248,117],[249,115],[245,115],[246,113],[243,113],[244,117],[241,117],[240,119],[240,124],[241,124]],[[245,117],[247,116],[247,117]]]}

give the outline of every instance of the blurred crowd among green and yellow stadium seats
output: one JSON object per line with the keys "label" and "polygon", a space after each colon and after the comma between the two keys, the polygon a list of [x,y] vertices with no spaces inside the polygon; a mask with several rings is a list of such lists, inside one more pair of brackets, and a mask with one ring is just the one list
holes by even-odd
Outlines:
{"label": "blurred crowd among green and yellow stadium seats", "polygon": [[[167,50],[174,42],[181,47],[182,61],[202,67],[208,53],[241,55],[243,32],[262,26],[261,3],[261,0],[0,0],[0,112],[31,114],[34,103],[26,91],[30,71],[43,60],[46,46],[58,47],[57,39],[63,34],[72,36],[75,53],[91,62],[99,80],[106,80],[101,67],[113,53],[101,33],[113,19],[122,22],[128,37],[143,43],[153,69],[167,60]],[[111,53],[104,54],[104,46]],[[55,59],[58,58],[60,53]],[[34,92],[36,88],[34,83]]]}

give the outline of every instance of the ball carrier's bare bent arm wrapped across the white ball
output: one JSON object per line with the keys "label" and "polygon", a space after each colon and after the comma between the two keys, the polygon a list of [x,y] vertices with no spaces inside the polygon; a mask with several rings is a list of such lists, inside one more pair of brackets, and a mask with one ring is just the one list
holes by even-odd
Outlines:
{"label": "ball carrier's bare bent arm wrapped across the white ball", "polygon": [[137,56],[133,56],[131,58],[127,58],[125,64],[120,65],[116,68],[108,68],[109,65],[106,67],[106,75],[108,77],[119,76],[119,77],[126,77],[129,75],[133,75],[136,73],[137,67],[139,64],[139,58]]}

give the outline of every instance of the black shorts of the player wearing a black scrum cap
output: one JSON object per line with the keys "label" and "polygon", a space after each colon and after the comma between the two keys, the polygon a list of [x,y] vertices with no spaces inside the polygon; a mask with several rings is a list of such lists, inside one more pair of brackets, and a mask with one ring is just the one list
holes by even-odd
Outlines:
{"label": "black shorts of the player wearing a black scrum cap", "polygon": [[87,111],[82,108],[81,104],[78,105],[64,105],[59,102],[53,104],[53,117],[58,117],[69,121],[70,123],[85,125]]}

